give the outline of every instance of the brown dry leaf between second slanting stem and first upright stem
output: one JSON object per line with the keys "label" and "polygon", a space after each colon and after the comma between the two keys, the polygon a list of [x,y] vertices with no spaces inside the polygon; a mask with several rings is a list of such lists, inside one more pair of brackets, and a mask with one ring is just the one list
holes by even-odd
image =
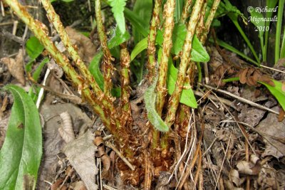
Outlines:
{"label": "brown dry leaf between second slanting stem and first upright stem", "polygon": [[81,56],[83,61],[90,63],[96,53],[96,48],[92,41],[70,26],[66,27],[66,33],[71,38],[73,45],[76,45],[79,56]]}

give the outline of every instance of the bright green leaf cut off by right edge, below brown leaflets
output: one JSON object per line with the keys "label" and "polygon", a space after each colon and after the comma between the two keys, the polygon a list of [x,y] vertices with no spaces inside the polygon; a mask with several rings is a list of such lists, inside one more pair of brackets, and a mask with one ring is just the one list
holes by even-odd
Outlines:
{"label": "bright green leaf cut off by right edge, below brown leaflets", "polygon": [[271,86],[269,84],[262,83],[260,81],[258,82],[261,83],[262,85],[265,85],[266,88],[268,88],[270,93],[274,95],[274,97],[276,97],[283,110],[285,110],[285,83],[279,82],[277,80],[272,80],[272,81],[275,86]]}

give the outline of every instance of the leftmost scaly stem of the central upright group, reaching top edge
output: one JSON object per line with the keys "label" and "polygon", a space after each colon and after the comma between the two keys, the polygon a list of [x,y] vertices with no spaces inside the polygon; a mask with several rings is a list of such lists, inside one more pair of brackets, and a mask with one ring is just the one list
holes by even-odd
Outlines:
{"label": "leftmost scaly stem of the central upright group, reaching top edge", "polygon": [[160,24],[160,9],[161,9],[161,1],[162,0],[156,0],[155,1],[155,7],[152,12],[152,20],[150,21],[150,34],[148,35],[148,41],[147,41],[147,56],[148,56],[148,62],[147,62],[147,78],[152,83],[153,76],[155,74],[155,38],[157,33],[157,26]]}

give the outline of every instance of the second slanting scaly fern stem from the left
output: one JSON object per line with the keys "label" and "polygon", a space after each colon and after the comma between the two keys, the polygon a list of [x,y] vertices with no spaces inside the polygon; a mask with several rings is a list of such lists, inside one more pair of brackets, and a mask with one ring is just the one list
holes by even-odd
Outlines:
{"label": "second slanting scaly fern stem from the left", "polygon": [[[61,40],[63,41],[64,46],[66,46],[68,53],[71,54],[71,57],[73,58],[76,65],[78,66],[83,77],[88,80],[95,95],[97,95],[97,97],[100,97],[99,102],[102,102],[100,103],[100,105],[102,105],[101,107],[105,107],[105,109],[108,109],[110,116],[113,117],[115,113],[115,107],[113,106],[113,102],[111,102],[111,100],[107,96],[104,95],[102,90],[100,90],[98,84],[93,78],[93,75],[91,75],[90,71],[86,67],[86,64],[83,63],[82,58],[78,55],[78,52],[76,51],[76,48],[74,48],[74,46],[72,45],[71,40],[68,34],[66,33],[58,14],[56,14],[56,11],[54,11],[53,6],[51,5],[51,2],[47,0],[41,0],[41,3],[43,4],[43,8],[46,10],[49,21],[53,23],[53,26],[54,28],[56,28],[56,31],[61,37]],[[115,120],[115,117],[113,119]]]}

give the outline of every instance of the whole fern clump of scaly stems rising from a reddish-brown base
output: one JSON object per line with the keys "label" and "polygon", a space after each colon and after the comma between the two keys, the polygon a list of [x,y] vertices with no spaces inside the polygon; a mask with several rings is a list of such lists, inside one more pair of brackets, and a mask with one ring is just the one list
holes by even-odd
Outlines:
{"label": "whole fern clump of scaly stems rising from a reddish-brown base", "polygon": [[[145,176],[143,181],[145,189],[150,189],[154,181],[152,169],[170,171],[175,164],[180,149],[172,156],[172,149],[180,147],[177,140],[177,125],[189,124],[190,108],[197,107],[197,101],[192,91],[194,84],[196,62],[207,62],[209,55],[203,44],[209,32],[209,27],[214,19],[219,0],[214,0],[211,9],[207,10],[207,1],[196,0],[180,1],[155,0],[149,29],[144,27],[144,22],[135,12],[125,8],[125,0],[104,1],[111,7],[113,16],[118,26],[113,43],[107,41],[106,30],[101,16],[101,1],[95,0],[95,19],[98,36],[100,38],[100,52],[93,58],[90,68],[86,67],[76,48],[72,45],[59,16],[53,9],[51,2],[41,0],[46,10],[48,19],[58,32],[64,46],[73,59],[71,61],[58,51],[49,38],[46,26],[32,18],[25,6],[16,0],[4,0],[11,10],[26,23],[28,28],[41,42],[49,56],[63,68],[66,76],[81,93],[82,97],[90,104],[95,114],[102,120],[116,144],[121,148],[123,155],[135,166],[134,171],[124,169],[125,176]],[[178,4],[178,3],[179,4]],[[143,4],[141,4],[142,6]],[[207,14],[206,14],[206,11]],[[141,53],[141,58],[147,60],[144,85],[145,91],[145,118],[146,125],[138,132],[132,130],[135,118],[132,115],[130,104],[130,69],[132,64],[139,62],[138,57],[130,56],[128,43],[130,34],[126,30],[125,19],[138,29],[143,36],[142,41],[131,52],[131,55]],[[138,47],[140,46],[140,47]],[[110,48],[120,48],[120,96],[119,105],[112,95],[113,83],[111,77],[114,70],[114,58]],[[145,52],[146,49],[146,52]],[[103,58],[103,73],[98,65]],[[181,129],[185,130],[185,129]],[[150,141],[148,141],[150,140]],[[202,138],[199,138],[201,144]],[[144,147],[144,149],[141,149]],[[199,146],[198,146],[199,147]],[[150,152],[150,157],[147,152]],[[197,148],[197,155],[199,148]],[[175,157],[175,159],[173,159]],[[194,165],[197,157],[192,160]],[[140,163],[143,162],[143,163]],[[199,163],[202,156],[199,155]],[[154,167],[154,168],[152,168]],[[199,178],[199,172],[196,174]],[[195,178],[195,180],[197,180]],[[141,178],[132,179],[125,177],[125,181],[133,185],[140,184]]]}

